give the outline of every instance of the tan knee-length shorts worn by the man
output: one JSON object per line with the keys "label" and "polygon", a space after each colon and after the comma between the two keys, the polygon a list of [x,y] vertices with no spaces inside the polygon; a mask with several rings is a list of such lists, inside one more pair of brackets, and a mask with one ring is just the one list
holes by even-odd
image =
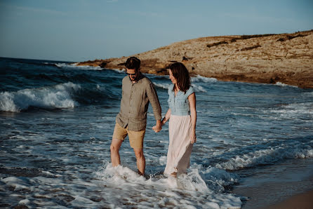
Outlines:
{"label": "tan knee-length shorts worn by the man", "polygon": [[119,123],[115,123],[114,133],[112,139],[123,140],[128,135],[129,144],[133,149],[143,148],[143,137],[145,137],[146,130],[128,130],[128,127],[123,128],[119,126]]}

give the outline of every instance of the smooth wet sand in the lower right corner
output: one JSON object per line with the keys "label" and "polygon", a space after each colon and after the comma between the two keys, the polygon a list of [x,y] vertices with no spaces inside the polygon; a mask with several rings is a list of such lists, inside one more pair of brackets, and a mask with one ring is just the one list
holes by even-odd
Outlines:
{"label": "smooth wet sand in the lower right corner", "polygon": [[232,191],[243,196],[243,200],[246,198],[242,208],[284,208],[285,204],[292,208],[300,201],[313,200],[312,170],[313,159],[291,159],[248,171],[239,170],[241,181]]}

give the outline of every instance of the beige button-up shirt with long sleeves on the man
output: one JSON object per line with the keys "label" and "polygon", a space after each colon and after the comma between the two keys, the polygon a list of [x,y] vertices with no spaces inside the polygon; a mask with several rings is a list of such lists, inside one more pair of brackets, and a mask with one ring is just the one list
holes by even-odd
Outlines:
{"label": "beige button-up shirt with long sleeves on the man", "polygon": [[128,126],[128,130],[145,130],[149,102],[154,118],[161,120],[161,106],[152,81],[141,73],[136,83],[125,76],[122,81],[121,110],[116,116],[116,122],[123,128]]}

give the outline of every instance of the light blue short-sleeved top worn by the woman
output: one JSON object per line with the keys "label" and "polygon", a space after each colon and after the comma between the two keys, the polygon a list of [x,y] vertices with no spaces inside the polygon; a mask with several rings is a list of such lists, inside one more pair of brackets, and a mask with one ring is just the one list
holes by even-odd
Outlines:
{"label": "light blue short-sleeved top worn by the woman", "polygon": [[174,84],[168,87],[168,107],[171,109],[171,114],[175,116],[187,116],[190,114],[190,106],[188,96],[194,93],[192,86],[184,93],[178,90],[177,95],[173,91]]}

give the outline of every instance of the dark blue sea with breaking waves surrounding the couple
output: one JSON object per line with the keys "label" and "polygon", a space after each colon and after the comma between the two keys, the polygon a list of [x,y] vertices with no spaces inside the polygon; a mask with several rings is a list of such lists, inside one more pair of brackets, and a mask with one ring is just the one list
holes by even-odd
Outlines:
{"label": "dark blue sea with breaking waves surrounding the couple", "polygon": [[[313,90],[196,76],[197,143],[187,175],[162,175],[168,124],[149,107],[146,176],[126,138],[109,145],[125,72],[69,62],[0,58],[0,207],[241,208],[232,191],[266,166],[313,157]],[[162,116],[168,76],[147,74]],[[266,171],[264,171],[266,172]]]}

